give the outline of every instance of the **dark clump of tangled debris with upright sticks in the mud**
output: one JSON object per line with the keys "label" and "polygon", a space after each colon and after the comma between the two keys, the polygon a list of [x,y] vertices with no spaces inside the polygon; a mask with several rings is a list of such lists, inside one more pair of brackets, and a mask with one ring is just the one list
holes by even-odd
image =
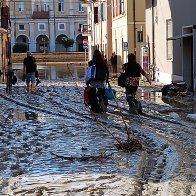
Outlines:
{"label": "dark clump of tangled debris with upright sticks in the mud", "polygon": [[117,148],[120,150],[133,152],[135,150],[142,150],[143,146],[139,140],[131,138],[128,142],[117,144]]}

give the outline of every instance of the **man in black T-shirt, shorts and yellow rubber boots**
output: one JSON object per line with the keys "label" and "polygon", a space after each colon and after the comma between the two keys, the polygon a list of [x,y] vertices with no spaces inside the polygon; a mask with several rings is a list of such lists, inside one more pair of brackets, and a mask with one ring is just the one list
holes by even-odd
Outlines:
{"label": "man in black T-shirt, shorts and yellow rubber boots", "polygon": [[37,70],[37,64],[35,58],[31,55],[31,52],[27,52],[27,57],[23,61],[23,75],[26,78],[27,91],[35,92],[35,73]]}

